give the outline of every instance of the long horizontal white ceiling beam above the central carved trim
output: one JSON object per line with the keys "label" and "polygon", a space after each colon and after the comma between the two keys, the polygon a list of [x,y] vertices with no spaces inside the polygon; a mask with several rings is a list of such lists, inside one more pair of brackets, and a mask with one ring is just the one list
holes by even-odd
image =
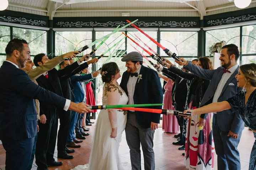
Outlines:
{"label": "long horizontal white ceiling beam above the central carved trim", "polygon": [[197,11],[191,8],[181,9],[59,9],[56,12],[130,12],[130,11]]}

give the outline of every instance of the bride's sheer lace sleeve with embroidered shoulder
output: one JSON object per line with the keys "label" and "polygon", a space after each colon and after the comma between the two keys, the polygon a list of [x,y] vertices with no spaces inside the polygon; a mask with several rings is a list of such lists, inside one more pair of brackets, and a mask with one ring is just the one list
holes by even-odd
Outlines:
{"label": "bride's sheer lace sleeve with embroidered shoulder", "polygon": [[[114,84],[108,84],[105,86],[105,95],[107,96],[108,105],[116,105],[119,102],[122,95],[120,89]],[[111,128],[117,127],[117,110],[108,109],[108,118],[110,120]]]}

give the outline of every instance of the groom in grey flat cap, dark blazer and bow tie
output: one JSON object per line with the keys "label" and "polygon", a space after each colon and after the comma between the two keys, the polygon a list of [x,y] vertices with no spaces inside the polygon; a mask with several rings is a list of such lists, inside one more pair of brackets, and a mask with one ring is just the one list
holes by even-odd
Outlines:
{"label": "groom in grey flat cap, dark blazer and bow tie", "polygon": [[[126,92],[128,104],[162,103],[163,93],[158,73],[142,65],[142,55],[130,52],[122,58],[127,71],[123,73],[120,86]],[[152,107],[153,108],[153,107]],[[155,106],[161,109],[162,106]],[[128,111],[126,140],[130,148],[133,170],[141,170],[140,144],[145,170],[155,169],[153,138],[160,121],[160,114]]]}

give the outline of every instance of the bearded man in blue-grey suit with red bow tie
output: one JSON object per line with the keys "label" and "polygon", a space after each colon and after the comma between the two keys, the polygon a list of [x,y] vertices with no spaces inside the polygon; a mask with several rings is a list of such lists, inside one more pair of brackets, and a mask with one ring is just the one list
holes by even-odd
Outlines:
{"label": "bearded man in blue-grey suit with red bow tie", "polygon": [[[213,102],[222,102],[240,91],[235,78],[239,70],[239,65],[237,64],[238,57],[238,47],[235,44],[229,44],[223,46],[221,50],[219,60],[222,67],[215,70],[204,70],[183,58],[180,58],[181,61],[176,61],[179,65],[184,65],[186,70],[201,78],[210,80],[200,107]],[[213,115],[212,130],[215,150],[218,155],[218,169],[241,169],[237,147],[243,129],[244,122],[237,112],[225,110]]]}

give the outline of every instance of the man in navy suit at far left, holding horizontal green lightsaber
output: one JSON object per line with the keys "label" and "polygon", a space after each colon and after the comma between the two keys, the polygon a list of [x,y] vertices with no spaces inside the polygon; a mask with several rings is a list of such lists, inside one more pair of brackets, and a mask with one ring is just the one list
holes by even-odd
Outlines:
{"label": "man in navy suit at far left, holding horizontal green lightsaber", "polygon": [[12,39],[6,46],[6,61],[0,68],[0,139],[6,150],[6,170],[24,170],[31,159],[37,133],[34,99],[64,110],[90,111],[84,103],[73,103],[35,83],[20,68],[25,67],[30,48],[25,40]]}

